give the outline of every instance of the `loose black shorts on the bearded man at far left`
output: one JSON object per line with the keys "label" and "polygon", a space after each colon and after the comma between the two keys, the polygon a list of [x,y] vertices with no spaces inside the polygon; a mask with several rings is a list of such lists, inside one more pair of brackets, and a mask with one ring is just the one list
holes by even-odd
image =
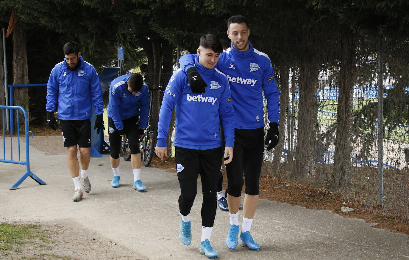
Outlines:
{"label": "loose black shorts on the bearded man at far left", "polygon": [[91,147],[91,120],[61,120],[64,147]]}

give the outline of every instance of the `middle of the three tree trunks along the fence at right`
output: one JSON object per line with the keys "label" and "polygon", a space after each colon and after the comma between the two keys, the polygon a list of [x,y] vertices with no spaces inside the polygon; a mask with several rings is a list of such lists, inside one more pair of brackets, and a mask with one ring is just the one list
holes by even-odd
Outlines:
{"label": "middle of the three tree trunks along the fence at right", "polygon": [[292,171],[294,180],[304,180],[315,174],[317,134],[317,84],[319,65],[314,55],[305,55],[300,65],[297,148]]}

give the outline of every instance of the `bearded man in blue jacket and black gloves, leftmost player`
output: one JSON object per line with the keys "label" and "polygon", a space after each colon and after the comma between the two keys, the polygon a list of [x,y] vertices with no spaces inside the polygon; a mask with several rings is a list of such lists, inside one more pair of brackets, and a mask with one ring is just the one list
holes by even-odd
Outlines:
{"label": "bearded man in blue jacket and black gloves, leftmost player", "polygon": [[[87,171],[91,158],[92,102],[97,115],[94,130],[98,128],[99,133],[101,129],[105,129],[102,116],[103,92],[97,71],[81,57],[78,44],[67,42],[63,51],[65,58],[52,69],[47,83],[47,122],[55,131],[57,121],[54,111],[58,101],[58,118],[64,147],[68,151],[68,168],[75,187],[72,200],[80,201],[83,190],[91,191]],[[81,174],[77,145],[81,154]]]}

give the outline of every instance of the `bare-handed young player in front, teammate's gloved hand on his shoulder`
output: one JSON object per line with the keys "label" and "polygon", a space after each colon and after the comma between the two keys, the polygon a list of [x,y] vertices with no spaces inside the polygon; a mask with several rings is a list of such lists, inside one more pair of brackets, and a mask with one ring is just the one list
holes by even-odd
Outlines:
{"label": "bare-handed young player in front, teammate's gloved hand on his shoulder", "polygon": [[200,253],[208,258],[218,256],[210,244],[216,216],[216,184],[221,177],[222,140],[220,122],[224,127],[225,164],[233,158],[234,112],[226,76],[214,68],[223,52],[222,44],[213,34],[200,38],[194,66],[198,76],[209,84],[206,93],[192,93],[187,74],[178,69],[166,87],[159,113],[156,155],[167,156],[166,138],[173,108],[176,111],[175,163],[180,184],[179,211],[180,240],[189,245],[191,236],[190,211],[198,189],[198,175],[202,182],[202,237]]}

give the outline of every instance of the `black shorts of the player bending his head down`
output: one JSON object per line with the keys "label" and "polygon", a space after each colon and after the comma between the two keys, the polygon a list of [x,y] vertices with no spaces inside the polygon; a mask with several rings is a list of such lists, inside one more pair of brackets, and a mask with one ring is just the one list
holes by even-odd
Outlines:
{"label": "black shorts of the player bending his head down", "polygon": [[[141,153],[139,150],[139,116],[133,116],[131,118],[122,120],[124,124],[124,133],[128,138],[130,153]],[[108,136],[109,144],[111,147],[111,157],[114,159],[119,158],[119,152],[121,151],[122,137],[119,135],[118,130],[115,127],[114,120],[108,117]]]}

